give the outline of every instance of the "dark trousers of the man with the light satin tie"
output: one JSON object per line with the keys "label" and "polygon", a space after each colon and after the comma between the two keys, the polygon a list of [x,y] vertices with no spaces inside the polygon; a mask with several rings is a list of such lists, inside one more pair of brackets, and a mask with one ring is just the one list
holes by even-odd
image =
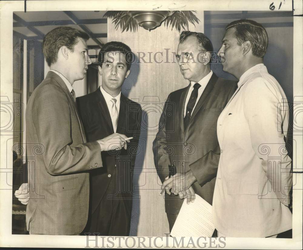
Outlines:
{"label": "dark trousers of the man with the light satin tie", "polygon": [[97,209],[88,215],[88,222],[82,233],[99,233],[102,236],[129,235],[132,200],[125,199],[123,193],[116,192],[115,173],[112,177]]}

